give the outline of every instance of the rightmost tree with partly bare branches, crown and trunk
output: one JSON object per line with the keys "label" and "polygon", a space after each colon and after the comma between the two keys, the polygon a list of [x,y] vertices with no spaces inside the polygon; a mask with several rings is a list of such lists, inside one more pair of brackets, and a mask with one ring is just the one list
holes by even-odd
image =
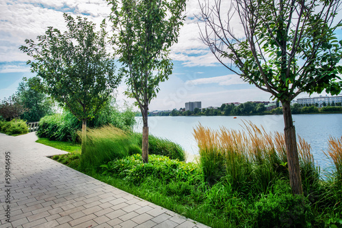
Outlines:
{"label": "rightmost tree with partly bare branches, crown and trunk", "polygon": [[200,5],[206,25],[200,35],[218,61],[282,102],[293,194],[303,190],[290,102],[302,92],[341,91],[336,80],[342,72],[337,66],[342,41],[334,37],[341,27],[341,21],[334,22],[340,5],[336,0],[235,0],[230,8],[218,0],[213,7],[209,1]]}

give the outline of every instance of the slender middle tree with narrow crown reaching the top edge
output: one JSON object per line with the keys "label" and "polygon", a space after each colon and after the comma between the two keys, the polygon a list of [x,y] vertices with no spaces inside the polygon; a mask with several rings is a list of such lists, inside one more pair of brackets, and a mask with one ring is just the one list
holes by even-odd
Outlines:
{"label": "slender middle tree with narrow crown reaching the top edge", "polygon": [[178,41],[185,0],[107,0],[112,5],[116,55],[127,95],[142,113],[142,159],[148,162],[148,105],[172,73],[170,46]]}

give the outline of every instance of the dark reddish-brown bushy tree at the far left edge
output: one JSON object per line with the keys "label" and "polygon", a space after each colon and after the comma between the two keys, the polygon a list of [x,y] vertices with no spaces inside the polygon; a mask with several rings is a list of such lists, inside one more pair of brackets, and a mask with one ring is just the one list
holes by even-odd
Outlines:
{"label": "dark reddish-brown bushy tree at the far left edge", "polygon": [[9,98],[3,99],[0,104],[0,115],[4,119],[18,119],[27,111],[29,111],[29,109],[25,108],[21,103],[21,100],[15,94]]}

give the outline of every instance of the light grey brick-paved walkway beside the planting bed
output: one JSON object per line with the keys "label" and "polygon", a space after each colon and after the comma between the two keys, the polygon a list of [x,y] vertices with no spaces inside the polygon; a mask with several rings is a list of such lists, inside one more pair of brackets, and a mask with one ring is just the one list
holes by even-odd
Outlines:
{"label": "light grey brick-paved walkway beside the planting bed", "polygon": [[47,158],[66,152],[36,139],[0,133],[0,227],[206,227]]}

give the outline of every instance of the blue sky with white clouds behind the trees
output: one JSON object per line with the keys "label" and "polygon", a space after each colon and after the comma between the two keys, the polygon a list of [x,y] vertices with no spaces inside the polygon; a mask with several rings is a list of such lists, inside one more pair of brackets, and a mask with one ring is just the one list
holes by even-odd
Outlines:
{"label": "blue sky with white clouds behind the trees", "polygon": [[[0,99],[11,96],[23,77],[34,76],[26,65],[29,56],[18,48],[25,39],[36,39],[47,27],[66,29],[63,13],[83,16],[96,25],[110,14],[105,0],[1,0],[0,1]],[[171,48],[174,70],[168,81],[159,85],[157,98],[150,111],[185,107],[185,102],[201,101],[202,107],[221,106],[227,102],[267,101],[270,94],[242,81],[224,68],[200,40],[196,18],[200,12],[197,0],[187,1],[186,19],[179,42]],[[117,103],[133,103],[124,96],[127,87],[121,83],[116,90]],[[324,96],[326,94],[323,94]],[[301,94],[300,97],[307,97]]]}

